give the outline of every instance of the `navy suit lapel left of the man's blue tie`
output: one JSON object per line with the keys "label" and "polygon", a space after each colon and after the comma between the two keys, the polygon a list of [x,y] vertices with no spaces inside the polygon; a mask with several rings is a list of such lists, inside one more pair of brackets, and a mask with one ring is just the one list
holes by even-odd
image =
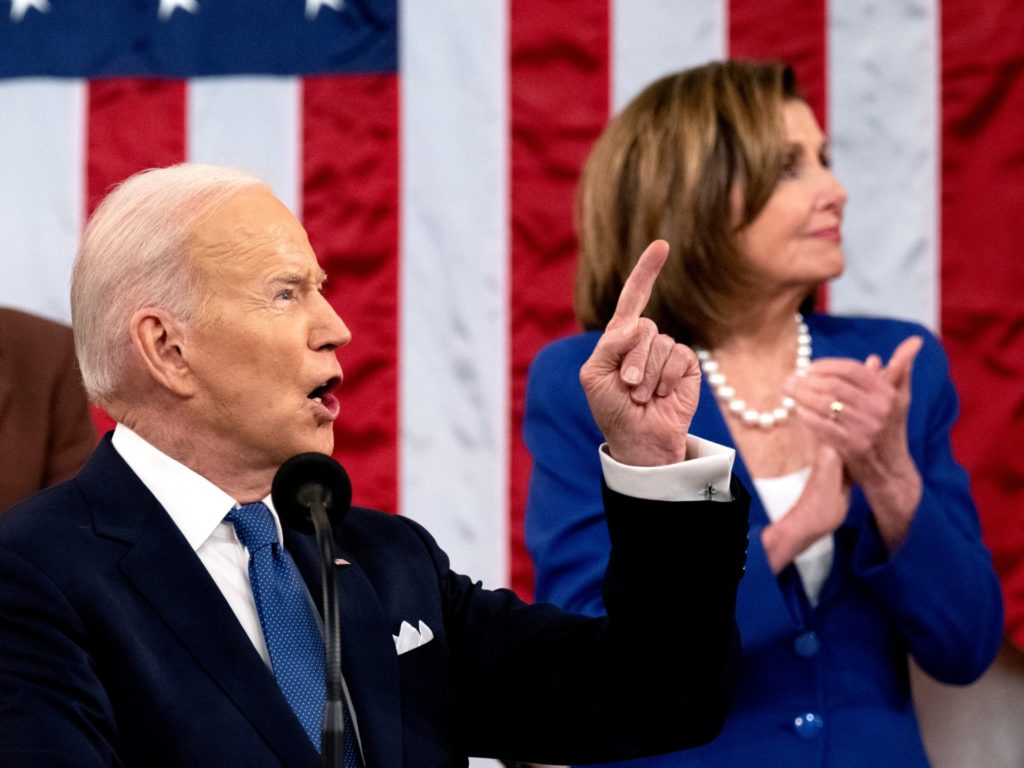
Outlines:
{"label": "navy suit lapel left of the man's blue tie", "polygon": [[[130,545],[121,569],[286,765],[317,754],[203,563],[110,435],[78,476],[100,536]],[[173,670],[168,671],[173,674]]]}

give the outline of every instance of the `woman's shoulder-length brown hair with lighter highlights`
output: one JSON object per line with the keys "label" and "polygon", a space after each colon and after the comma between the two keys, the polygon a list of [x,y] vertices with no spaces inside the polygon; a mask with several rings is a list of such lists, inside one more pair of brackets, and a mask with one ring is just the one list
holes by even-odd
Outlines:
{"label": "woman's shoulder-length brown hair with lighter highlights", "polygon": [[[737,233],[786,158],[782,106],[801,99],[775,61],[719,61],[648,85],[608,123],[577,190],[577,316],[603,328],[647,245],[669,261],[645,314],[678,341],[713,346],[754,288]],[[737,217],[738,210],[738,217]]]}

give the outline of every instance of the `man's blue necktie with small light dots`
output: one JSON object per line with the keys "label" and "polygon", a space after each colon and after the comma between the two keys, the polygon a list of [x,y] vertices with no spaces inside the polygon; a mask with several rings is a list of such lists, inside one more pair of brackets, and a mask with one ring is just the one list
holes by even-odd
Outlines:
{"label": "man's blue necktie with small light dots", "polygon": [[[309,593],[262,502],[232,509],[224,518],[249,550],[249,582],[263,629],[273,676],[309,740],[321,749],[324,720],[324,637]],[[358,768],[348,708],[345,708],[345,768]]]}

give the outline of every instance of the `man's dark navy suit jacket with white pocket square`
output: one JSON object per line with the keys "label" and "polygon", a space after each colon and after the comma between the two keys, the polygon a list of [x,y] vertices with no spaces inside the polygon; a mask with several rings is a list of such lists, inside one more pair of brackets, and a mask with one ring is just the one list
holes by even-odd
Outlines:
{"label": "man's dark navy suit jacket with white pocket square", "polygon": [[[350,510],[335,531],[352,563],[338,571],[342,652],[367,768],[592,761],[712,738],[737,652],[748,499],[736,493],[666,504],[605,489],[610,621],[484,590],[416,523]],[[318,604],[312,537],[286,535],[286,547]],[[0,765],[319,764],[109,436],[74,480],[0,518]],[[396,654],[403,621],[434,639]]]}

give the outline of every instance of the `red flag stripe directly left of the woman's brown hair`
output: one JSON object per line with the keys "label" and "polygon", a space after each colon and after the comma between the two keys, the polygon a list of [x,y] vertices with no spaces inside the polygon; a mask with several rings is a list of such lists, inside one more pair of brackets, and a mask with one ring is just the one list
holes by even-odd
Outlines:
{"label": "red flag stripe directly left of the woman's brown hair", "polygon": [[[566,19],[571,19],[566,23]],[[578,329],[571,310],[572,199],[608,118],[609,16],[604,2],[511,4],[511,585],[532,592],[522,517],[529,455],[522,443],[526,371],[548,341]]]}

